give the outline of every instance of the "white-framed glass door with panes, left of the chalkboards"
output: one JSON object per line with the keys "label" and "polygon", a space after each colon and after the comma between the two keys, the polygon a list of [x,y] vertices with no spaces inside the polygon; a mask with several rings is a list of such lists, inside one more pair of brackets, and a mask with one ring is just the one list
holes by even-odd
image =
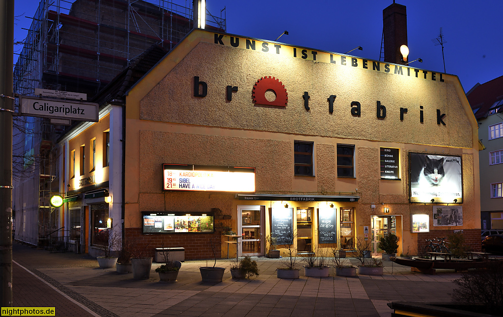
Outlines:
{"label": "white-framed glass door with panes, left of the chalkboards", "polygon": [[264,255],[264,223],[266,206],[237,206],[240,218],[237,232],[242,235],[239,253],[243,255]]}

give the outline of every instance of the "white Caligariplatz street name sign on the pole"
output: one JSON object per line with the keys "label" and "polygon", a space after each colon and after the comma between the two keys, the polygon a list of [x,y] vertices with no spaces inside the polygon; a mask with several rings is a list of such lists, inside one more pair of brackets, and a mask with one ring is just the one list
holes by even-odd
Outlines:
{"label": "white Caligariplatz street name sign on the pole", "polygon": [[19,96],[19,115],[98,122],[98,103]]}

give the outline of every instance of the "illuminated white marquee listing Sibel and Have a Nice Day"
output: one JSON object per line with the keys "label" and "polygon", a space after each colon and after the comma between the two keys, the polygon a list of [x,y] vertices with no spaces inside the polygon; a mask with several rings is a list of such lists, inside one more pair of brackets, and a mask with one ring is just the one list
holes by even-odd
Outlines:
{"label": "illuminated white marquee listing Sibel and Have a Nice Day", "polygon": [[255,168],[164,164],[164,190],[255,192]]}

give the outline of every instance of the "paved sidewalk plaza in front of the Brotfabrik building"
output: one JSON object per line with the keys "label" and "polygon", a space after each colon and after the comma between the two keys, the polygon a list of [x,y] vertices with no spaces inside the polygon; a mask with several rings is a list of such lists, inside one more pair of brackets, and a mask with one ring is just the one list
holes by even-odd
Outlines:
{"label": "paved sidewalk plaza in front of the Brotfabrik building", "polygon": [[[178,282],[162,283],[155,263],[150,279],[134,280],[132,274],[100,269],[87,255],[51,254],[18,242],[13,258],[67,296],[14,265],[15,306],[55,306],[56,316],[390,316],[390,301],[450,301],[452,280],[460,276],[452,270],[412,273],[386,261],[382,276],[346,278],[331,272],[327,278],[307,278],[301,270],[300,279],[283,280],[276,277],[279,260],[258,258],[260,276],[252,280],[232,280],[226,270],[223,282],[203,283],[199,267],[206,261],[186,261]],[[217,266],[230,265],[231,260],[217,260]],[[41,286],[31,289],[30,276]]]}

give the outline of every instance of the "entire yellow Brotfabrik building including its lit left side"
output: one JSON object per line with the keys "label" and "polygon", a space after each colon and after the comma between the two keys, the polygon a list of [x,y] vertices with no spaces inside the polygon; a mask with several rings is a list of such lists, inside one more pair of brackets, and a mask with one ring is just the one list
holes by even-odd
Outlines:
{"label": "entire yellow Brotfabrik building including its lit left side", "polygon": [[238,255],[289,232],[300,253],[378,253],[387,233],[417,253],[456,230],[480,250],[478,126],[457,76],[196,29],[120,86],[97,96],[99,123],[59,142],[90,254],[112,228],[187,259],[215,240],[235,256],[229,232]]}

